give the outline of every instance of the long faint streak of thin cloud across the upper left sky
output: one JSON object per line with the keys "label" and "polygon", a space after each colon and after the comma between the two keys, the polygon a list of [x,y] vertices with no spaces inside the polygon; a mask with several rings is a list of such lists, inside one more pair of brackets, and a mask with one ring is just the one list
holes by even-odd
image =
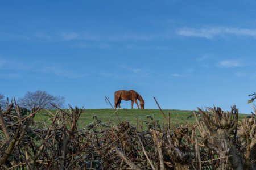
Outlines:
{"label": "long faint streak of thin cloud across the upper left sky", "polygon": [[13,33],[0,32],[0,41],[3,40],[20,40],[20,41],[149,41],[160,35],[136,33],[136,32],[119,32],[119,33],[101,33],[93,31],[35,31],[31,33]]}

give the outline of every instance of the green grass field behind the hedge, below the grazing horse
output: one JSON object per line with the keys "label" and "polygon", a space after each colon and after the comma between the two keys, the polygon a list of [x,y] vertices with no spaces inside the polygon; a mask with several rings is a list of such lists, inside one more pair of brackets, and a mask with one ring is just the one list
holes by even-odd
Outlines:
{"label": "green grass field behind the hedge, below the grazing horse", "polygon": [[[56,111],[52,111],[53,113]],[[168,118],[170,113],[171,124],[174,126],[185,125],[187,123],[193,124],[195,122],[195,118],[187,118],[191,115],[192,111],[185,110],[163,110],[164,114]],[[102,123],[110,122],[111,125],[117,125],[120,121],[128,121],[133,125],[142,125],[144,127],[146,122],[149,122],[150,119],[147,118],[147,115],[150,115],[154,118],[154,120],[159,120],[159,124],[163,125],[166,122],[163,114],[159,109],[84,109],[79,118],[79,128],[84,128],[86,125],[94,122],[93,116],[97,116]],[[247,117],[248,114],[240,114],[239,119]],[[45,111],[41,111],[36,114],[35,121],[38,124],[43,124],[47,126],[50,121],[49,114]]]}

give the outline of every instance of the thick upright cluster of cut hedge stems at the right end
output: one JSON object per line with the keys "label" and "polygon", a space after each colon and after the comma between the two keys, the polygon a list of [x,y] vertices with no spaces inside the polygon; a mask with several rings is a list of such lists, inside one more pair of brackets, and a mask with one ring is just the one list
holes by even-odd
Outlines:
{"label": "thick upright cluster of cut hedge stems at the right end", "polygon": [[255,169],[255,153],[251,152],[256,144],[255,118],[242,120],[238,136],[238,109],[235,106],[230,112],[216,107],[207,109],[199,109],[203,120],[199,122],[196,118],[196,124],[201,134],[201,146],[207,147],[218,158],[213,168]]}

